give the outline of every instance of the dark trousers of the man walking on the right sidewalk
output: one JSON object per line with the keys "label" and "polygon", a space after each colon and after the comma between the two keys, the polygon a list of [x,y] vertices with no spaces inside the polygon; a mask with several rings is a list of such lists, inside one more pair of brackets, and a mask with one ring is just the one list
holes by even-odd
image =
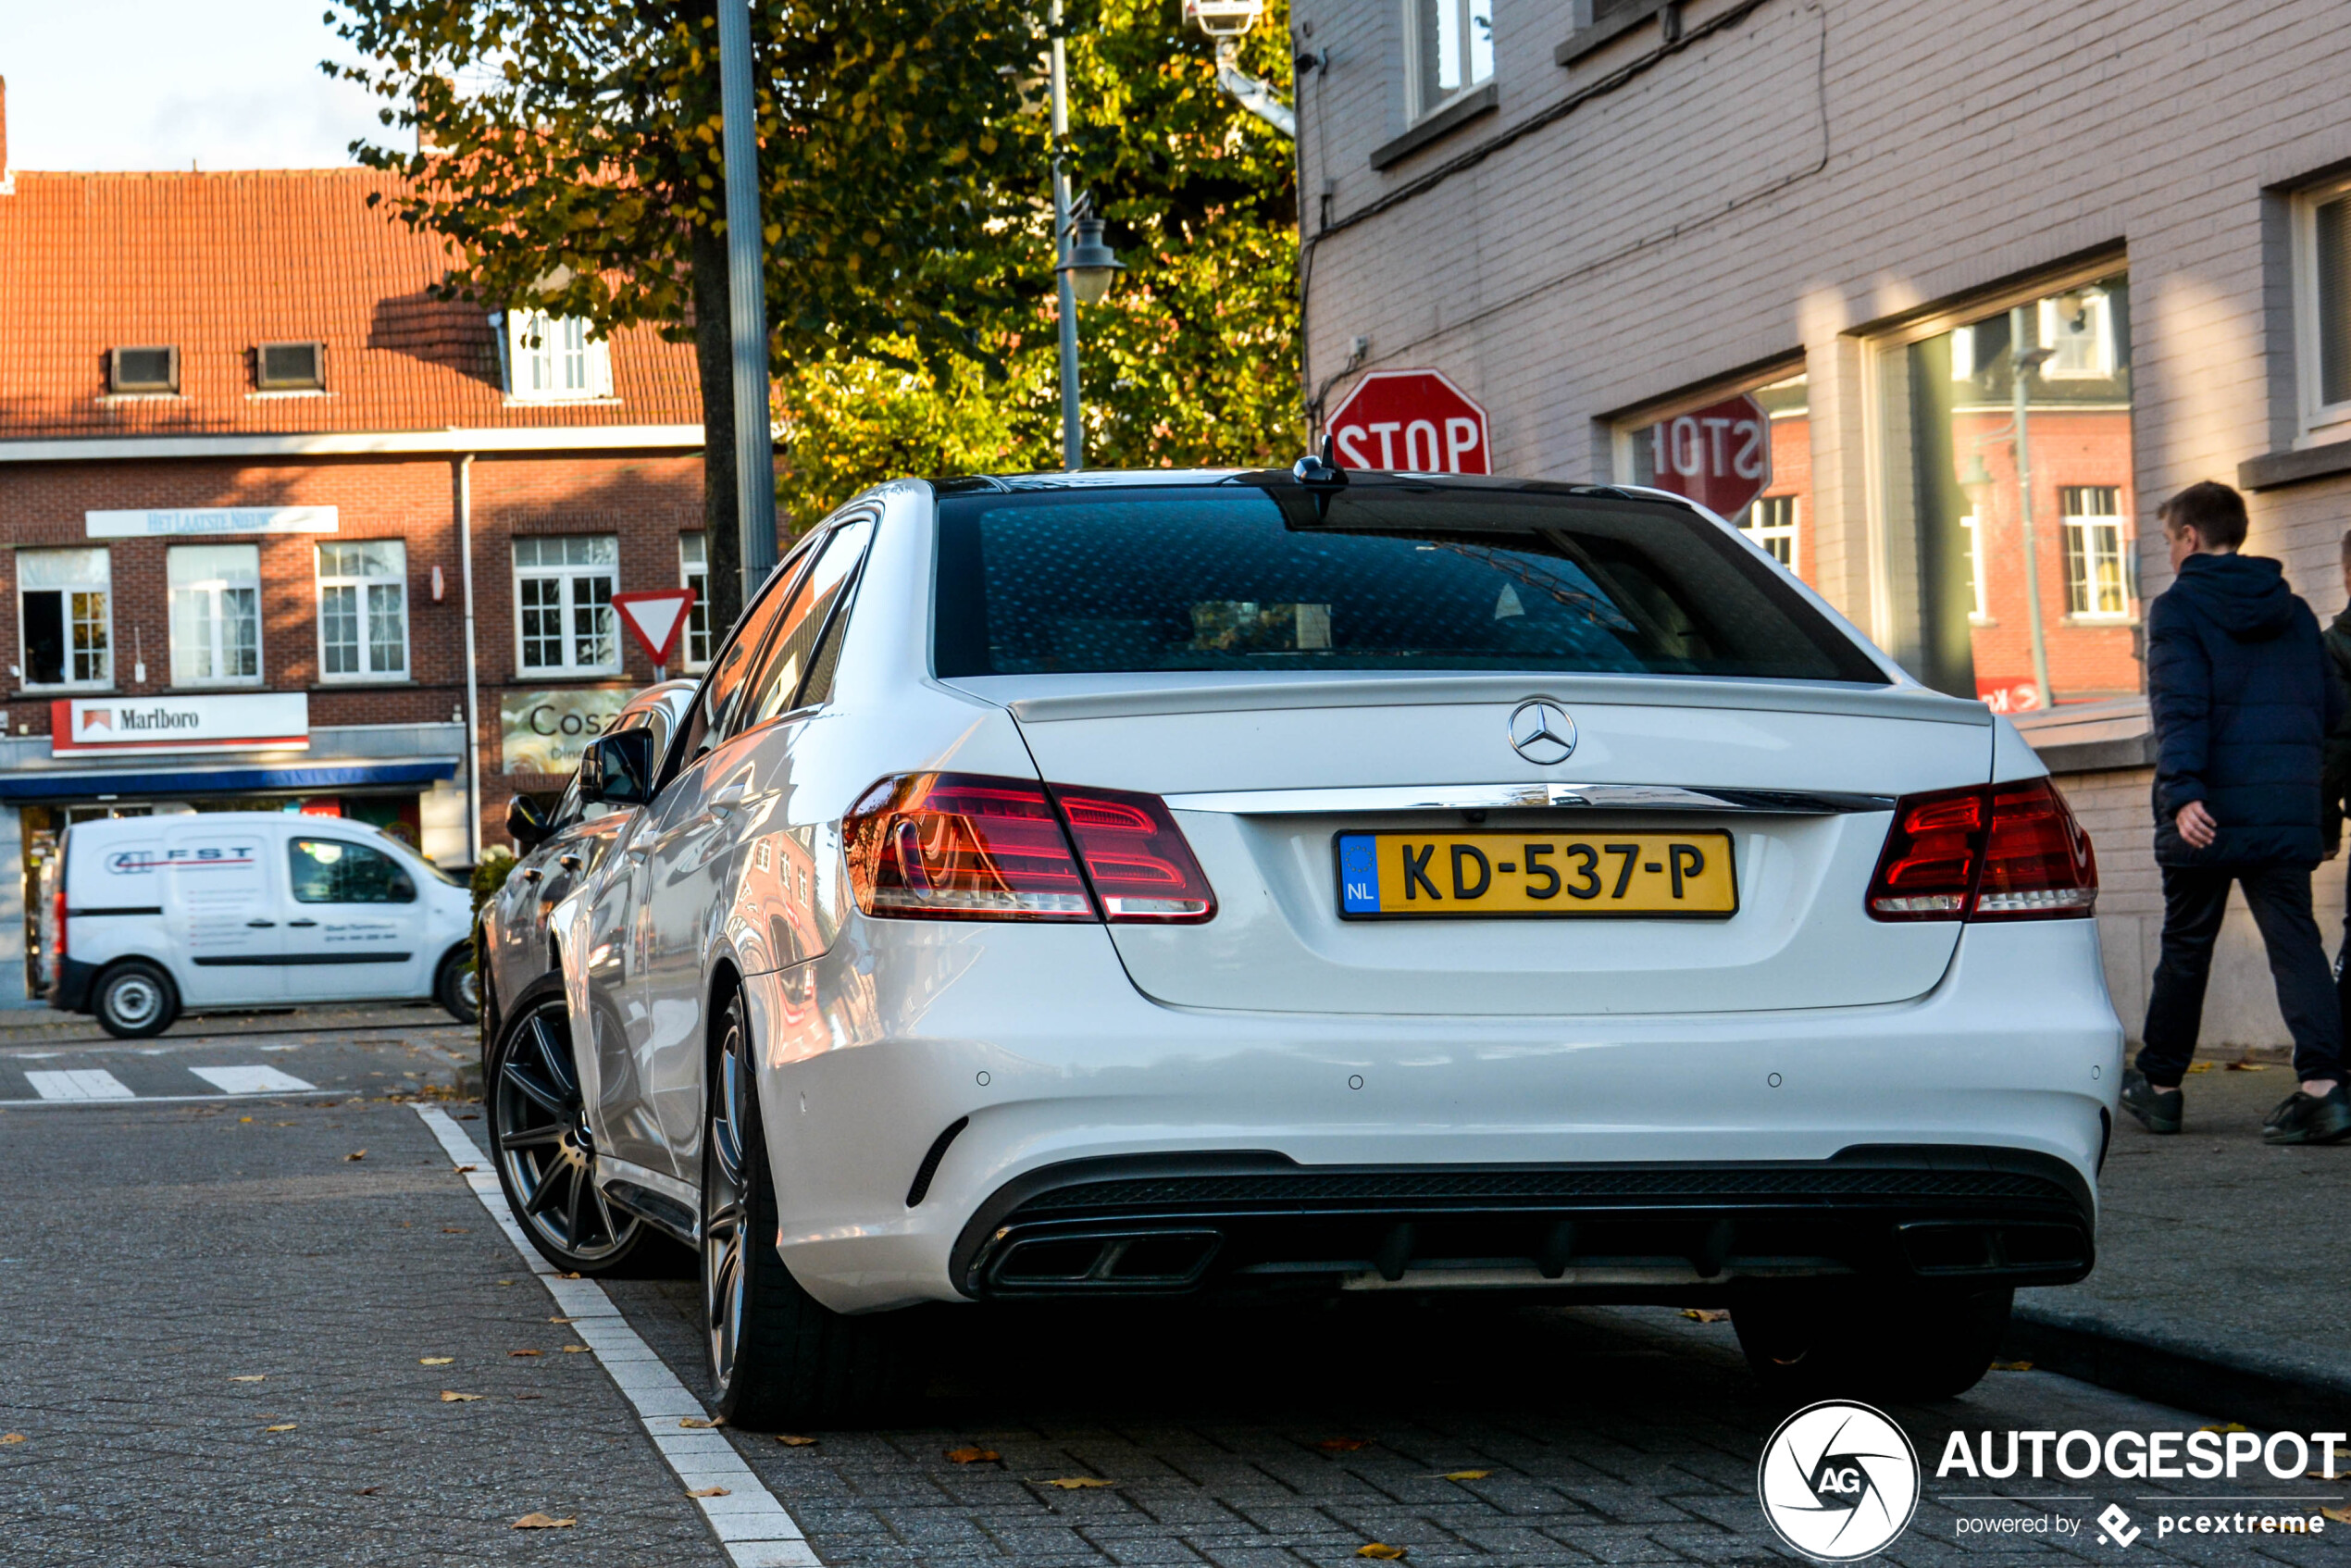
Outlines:
{"label": "dark trousers of the man walking on the right sidewalk", "polygon": [[2229,910],[2231,882],[2245,889],[2252,924],[2262,929],[2278,1011],[2295,1037],[2295,1072],[2302,1079],[2339,1079],[2344,1009],[2311,917],[2311,872],[2299,865],[2163,867],[2163,957],[2156,959],[2156,987],[2146,999],[2139,1072],[2158,1088],[2175,1088],[2196,1058],[2212,943]]}

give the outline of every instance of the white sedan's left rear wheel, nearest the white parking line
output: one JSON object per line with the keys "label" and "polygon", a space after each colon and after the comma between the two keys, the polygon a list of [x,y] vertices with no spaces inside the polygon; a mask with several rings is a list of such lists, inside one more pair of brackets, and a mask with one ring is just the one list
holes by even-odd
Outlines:
{"label": "white sedan's left rear wheel, nearest the white parking line", "polygon": [[905,1394],[900,1314],[846,1316],[799,1288],[776,1253],[776,1187],[750,1063],[750,1009],[719,1018],[703,1121],[703,1326],[712,1406],[731,1427],[846,1427]]}

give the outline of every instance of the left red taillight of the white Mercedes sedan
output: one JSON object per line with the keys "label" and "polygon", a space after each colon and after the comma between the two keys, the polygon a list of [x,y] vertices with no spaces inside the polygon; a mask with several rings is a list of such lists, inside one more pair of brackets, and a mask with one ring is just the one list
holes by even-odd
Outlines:
{"label": "left red taillight of the white Mercedes sedan", "polygon": [[849,811],[842,846],[868,914],[1103,919],[1107,912],[1114,922],[1215,914],[1208,879],[1154,795],[900,773]]}

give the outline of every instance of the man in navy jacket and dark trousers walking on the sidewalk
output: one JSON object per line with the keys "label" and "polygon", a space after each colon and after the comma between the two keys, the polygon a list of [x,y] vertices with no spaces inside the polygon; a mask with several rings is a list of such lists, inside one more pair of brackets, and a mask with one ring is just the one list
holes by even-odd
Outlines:
{"label": "man in navy jacket and dark trousers walking on the sidewalk", "polygon": [[2262,1126],[2266,1143],[2351,1135],[2344,1020],[2311,917],[2325,858],[2320,755],[2344,715],[2318,616],[2273,559],[2238,555],[2245,498],[2191,484],[2158,512],[2177,581],[2146,607],[2146,701],[2156,724],[2156,865],[2163,954],[2146,1046],[2123,1074],[2123,1110],[2177,1133],[2179,1081],[2196,1056],[2212,943],[2229,886],[2269,950],[2302,1086]]}

